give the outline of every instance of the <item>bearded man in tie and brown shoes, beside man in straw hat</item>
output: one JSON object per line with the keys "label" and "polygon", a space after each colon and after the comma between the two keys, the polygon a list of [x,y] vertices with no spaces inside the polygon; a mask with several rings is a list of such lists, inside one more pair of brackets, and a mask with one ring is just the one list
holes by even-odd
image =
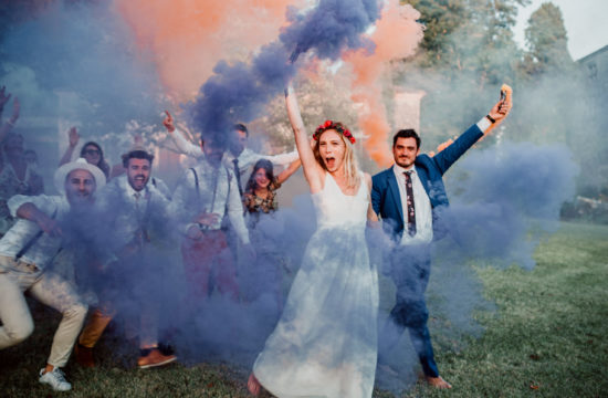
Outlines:
{"label": "bearded man in tie and brown shoes, beside man in straw hat", "polygon": [[139,324],[139,368],[163,366],[176,360],[159,349],[158,317],[163,275],[169,266],[160,260],[156,245],[169,238],[168,200],[148,184],[154,156],[144,148],[123,155],[125,176],[114,178],[99,191],[95,203],[99,244],[115,258],[96,281],[101,304],[93,312],[76,346],[76,358],[93,367],[93,347],[117,310],[137,318]]}

